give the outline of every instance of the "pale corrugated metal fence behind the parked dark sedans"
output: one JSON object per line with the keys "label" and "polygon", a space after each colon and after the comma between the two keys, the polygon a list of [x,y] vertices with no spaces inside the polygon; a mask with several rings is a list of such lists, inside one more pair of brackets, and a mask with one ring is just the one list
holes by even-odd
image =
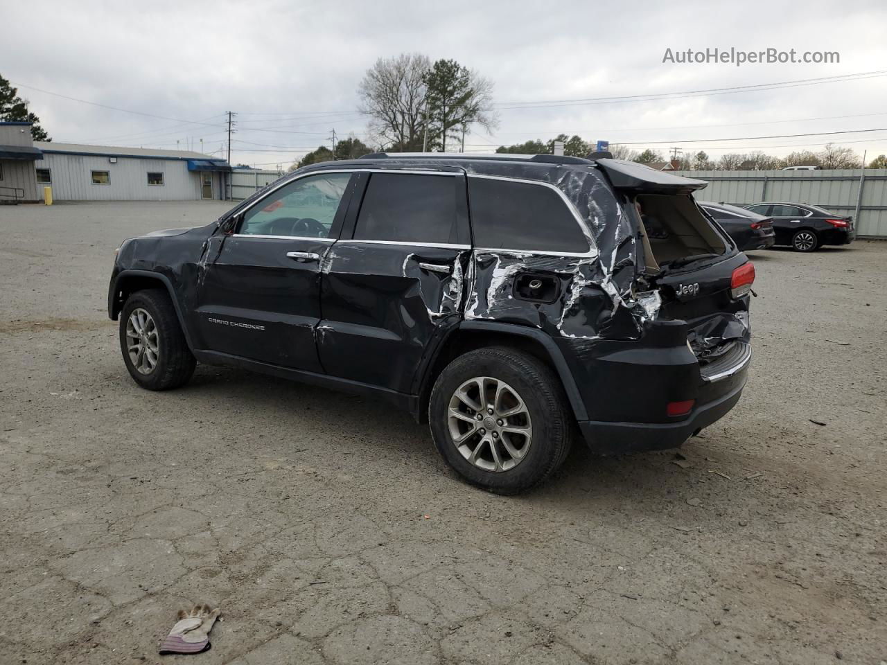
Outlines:
{"label": "pale corrugated metal fence behind the parked dark sedans", "polygon": [[887,170],[843,168],[816,171],[678,171],[707,180],[696,192],[706,201],[746,206],[761,201],[807,203],[853,215],[857,236],[887,238]]}

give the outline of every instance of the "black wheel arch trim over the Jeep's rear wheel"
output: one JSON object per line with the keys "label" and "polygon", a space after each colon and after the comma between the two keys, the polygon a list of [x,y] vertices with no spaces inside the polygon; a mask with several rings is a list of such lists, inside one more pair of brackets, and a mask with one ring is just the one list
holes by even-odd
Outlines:
{"label": "black wheel arch trim over the Jeep's rear wheel", "polygon": [[451,360],[475,348],[491,346],[518,348],[547,364],[561,379],[561,386],[567,394],[575,418],[577,420],[588,418],[576,380],[573,379],[573,374],[569,371],[569,365],[563,357],[561,349],[551,337],[538,328],[503,324],[496,321],[462,321],[459,326],[455,326],[451,330],[436,348],[434,356],[425,365],[425,370],[420,376],[415,418],[419,422],[427,421],[431,388],[434,387],[438,375]]}

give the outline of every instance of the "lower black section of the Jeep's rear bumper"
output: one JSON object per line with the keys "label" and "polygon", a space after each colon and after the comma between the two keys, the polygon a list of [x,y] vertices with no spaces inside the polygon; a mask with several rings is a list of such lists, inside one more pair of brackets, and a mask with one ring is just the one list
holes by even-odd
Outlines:
{"label": "lower black section of the Jeep's rear bumper", "polygon": [[583,420],[579,429],[585,443],[598,455],[624,455],[642,450],[678,448],[703,427],[710,426],[733,409],[742,396],[747,369],[734,376],[730,390],[709,403],[704,403],[686,419],[674,423],[611,423]]}

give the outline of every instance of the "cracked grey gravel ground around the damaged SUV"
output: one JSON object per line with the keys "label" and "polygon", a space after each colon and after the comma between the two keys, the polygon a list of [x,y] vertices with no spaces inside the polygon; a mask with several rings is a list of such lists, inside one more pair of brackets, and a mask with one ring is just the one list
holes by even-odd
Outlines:
{"label": "cracked grey gravel ground around the damaged SUV", "polygon": [[749,385],[684,457],[578,448],[505,498],[381,403],[136,387],[114,247],[223,210],[0,207],[0,663],[161,661],[204,600],[189,662],[887,661],[887,243],[753,255]]}

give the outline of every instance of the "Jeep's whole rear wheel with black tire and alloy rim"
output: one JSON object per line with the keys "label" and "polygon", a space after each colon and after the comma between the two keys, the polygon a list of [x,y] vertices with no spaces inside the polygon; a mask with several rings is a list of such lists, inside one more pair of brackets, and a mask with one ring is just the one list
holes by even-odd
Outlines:
{"label": "Jeep's whole rear wheel with black tire and alloy rim", "polygon": [[470,351],[437,377],[428,403],[437,450],[456,473],[518,494],[563,464],[572,413],[561,381],[536,357],[507,347]]}

